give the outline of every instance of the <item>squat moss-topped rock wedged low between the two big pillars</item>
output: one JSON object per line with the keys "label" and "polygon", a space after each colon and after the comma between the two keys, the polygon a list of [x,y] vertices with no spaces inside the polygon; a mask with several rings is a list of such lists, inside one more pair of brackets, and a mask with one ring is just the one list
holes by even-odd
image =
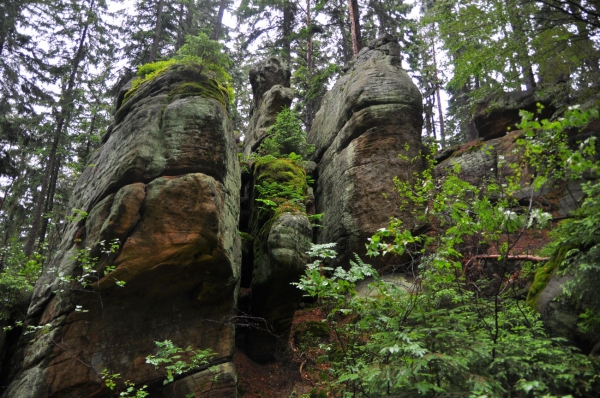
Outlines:
{"label": "squat moss-topped rock wedged low between the two big pillars", "polygon": [[[312,226],[306,215],[307,183],[303,163],[287,158],[258,159],[250,181],[252,246],[243,257],[243,274],[252,275],[248,300],[240,307],[255,320],[240,328],[240,340],[248,357],[257,362],[275,359],[280,343],[287,341],[292,318],[302,297],[298,282],[308,263]],[[270,203],[267,205],[266,203]],[[241,228],[241,227],[240,227]],[[247,303],[246,303],[247,301]]]}

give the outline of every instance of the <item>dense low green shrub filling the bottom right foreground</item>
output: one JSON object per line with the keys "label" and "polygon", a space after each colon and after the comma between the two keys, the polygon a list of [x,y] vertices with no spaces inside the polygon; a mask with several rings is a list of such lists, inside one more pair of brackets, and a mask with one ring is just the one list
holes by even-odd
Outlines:
{"label": "dense low green shrub filling the bottom right foreground", "polygon": [[[321,345],[334,353],[324,384],[337,396],[584,396],[598,387],[596,362],[547,337],[514,297],[496,307],[464,289],[450,265],[423,268],[407,291],[358,257],[347,271],[321,262],[297,285],[327,309],[336,339]],[[368,276],[377,295],[357,297]]]}

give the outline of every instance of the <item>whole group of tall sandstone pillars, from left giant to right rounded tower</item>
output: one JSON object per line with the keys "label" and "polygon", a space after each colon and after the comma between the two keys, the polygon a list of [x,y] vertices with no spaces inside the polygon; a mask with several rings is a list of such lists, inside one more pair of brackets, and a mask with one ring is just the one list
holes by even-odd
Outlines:
{"label": "whole group of tall sandstone pillars, from left giant to right rounded tower", "polygon": [[[250,79],[246,155],[293,97],[289,68],[276,58]],[[234,397],[233,324],[245,326],[239,347],[255,361],[287,342],[302,295],[291,283],[313,241],[307,214],[325,213],[318,241],[337,242],[342,261],[362,254],[390,216],[411,225],[393,178],[421,170],[421,96],[394,37],[363,49],[326,95],[311,161],[261,158],[242,173],[228,105],[226,91],[191,66],[119,93],[74,189],[79,216],[35,287],[24,325],[33,332],[11,349],[3,398],[107,397],[105,369],[120,375],[119,388],[145,384],[152,397]],[[215,356],[163,387],[164,370],[146,357],[164,340]]]}

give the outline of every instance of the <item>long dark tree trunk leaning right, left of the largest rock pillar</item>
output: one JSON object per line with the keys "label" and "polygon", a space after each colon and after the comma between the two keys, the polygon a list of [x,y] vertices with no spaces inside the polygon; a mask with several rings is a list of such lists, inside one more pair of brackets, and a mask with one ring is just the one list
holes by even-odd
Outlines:
{"label": "long dark tree trunk leaning right, left of the largest rock pillar", "polygon": [[[91,0],[89,7],[90,13],[94,9],[94,3],[95,0]],[[42,178],[42,186],[39,193],[39,197],[35,209],[33,211],[33,221],[31,223],[31,230],[29,231],[29,235],[27,236],[27,242],[25,244],[25,255],[27,257],[31,256],[31,254],[33,253],[35,239],[38,236],[40,224],[42,222],[42,211],[44,209],[44,203],[46,202],[46,196],[48,194],[48,189],[50,188],[52,172],[54,171],[57,162],[56,154],[58,152],[58,145],[60,143],[63,131],[66,128],[66,121],[70,118],[71,112],[73,110],[73,95],[75,92],[76,77],[77,72],[79,70],[79,64],[85,56],[85,40],[87,38],[90,22],[91,18],[88,17],[88,20],[83,26],[83,30],[79,38],[79,43],[77,46],[75,57],[73,58],[72,69],[69,75],[67,86],[63,90],[61,99],[59,101],[60,112],[58,113],[56,119],[56,128],[54,129],[52,146],[50,148],[50,154],[48,155],[48,163],[44,171],[44,177]]]}

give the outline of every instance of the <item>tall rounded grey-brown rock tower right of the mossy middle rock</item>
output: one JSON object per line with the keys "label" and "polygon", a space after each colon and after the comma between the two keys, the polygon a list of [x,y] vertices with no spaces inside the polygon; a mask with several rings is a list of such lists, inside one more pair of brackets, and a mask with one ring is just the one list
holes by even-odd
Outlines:
{"label": "tall rounded grey-brown rock tower right of the mossy middle rock", "polygon": [[366,239],[390,216],[411,227],[393,178],[421,170],[421,162],[398,154],[420,156],[422,99],[400,64],[395,37],[363,48],[323,98],[308,134],[318,163],[316,212],[324,213],[318,242],[336,242],[342,264],[352,252],[364,254]]}

